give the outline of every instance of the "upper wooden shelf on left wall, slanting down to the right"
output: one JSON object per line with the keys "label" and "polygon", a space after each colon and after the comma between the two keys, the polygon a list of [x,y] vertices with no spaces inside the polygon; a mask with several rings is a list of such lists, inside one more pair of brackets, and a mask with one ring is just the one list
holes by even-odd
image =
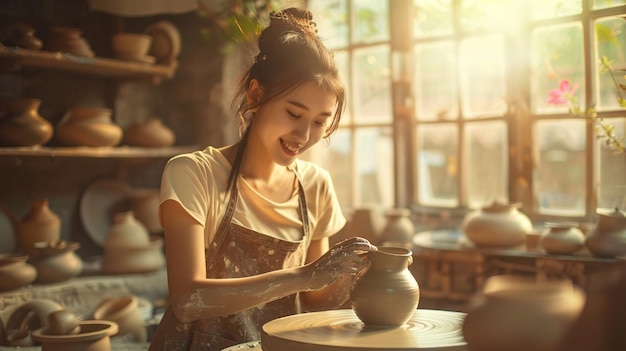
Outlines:
{"label": "upper wooden shelf on left wall, slanting down to the right", "polygon": [[80,57],[64,52],[28,50],[0,44],[0,67],[62,70],[116,79],[149,80],[159,83],[174,76],[178,62],[159,65],[101,57]]}

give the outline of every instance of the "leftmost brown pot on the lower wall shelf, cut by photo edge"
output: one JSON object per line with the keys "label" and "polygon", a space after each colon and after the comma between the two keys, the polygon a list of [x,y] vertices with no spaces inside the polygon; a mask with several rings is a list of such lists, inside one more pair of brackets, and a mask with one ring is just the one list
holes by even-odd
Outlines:
{"label": "leftmost brown pot on the lower wall shelf, cut by photo edge", "polygon": [[41,100],[0,100],[0,146],[44,145],[54,133],[52,124],[39,114]]}

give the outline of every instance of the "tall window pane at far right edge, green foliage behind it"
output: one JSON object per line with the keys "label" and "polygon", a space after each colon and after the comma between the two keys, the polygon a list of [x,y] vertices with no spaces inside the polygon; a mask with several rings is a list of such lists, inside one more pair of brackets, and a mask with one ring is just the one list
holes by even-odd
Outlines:
{"label": "tall window pane at far right edge, green foliage behind it", "polygon": [[[603,18],[596,21],[596,42],[598,49],[597,62],[602,56],[613,61],[613,68],[626,68],[626,21],[616,17]],[[617,84],[626,84],[624,72],[613,73]],[[611,79],[609,72],[598,77],[600,84],[597,96],[598,110],[619,108],[619,87]],[[622,92],[622,95],[626,95]]]}

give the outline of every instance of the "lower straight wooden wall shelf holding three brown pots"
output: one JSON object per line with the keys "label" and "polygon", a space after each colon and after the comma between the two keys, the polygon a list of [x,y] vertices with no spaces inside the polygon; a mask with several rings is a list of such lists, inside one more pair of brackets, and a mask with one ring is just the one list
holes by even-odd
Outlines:
{"label": "lower straight wooden wall shelf holding three brown pots", "polygon": [[29,156],[29,157],[90,157],[90,158],[165,158],[185,152],[198,150],[199,146],[173,146],[163,148],[148,148],[134,146],[116,147],[1,147],[2,156]]}

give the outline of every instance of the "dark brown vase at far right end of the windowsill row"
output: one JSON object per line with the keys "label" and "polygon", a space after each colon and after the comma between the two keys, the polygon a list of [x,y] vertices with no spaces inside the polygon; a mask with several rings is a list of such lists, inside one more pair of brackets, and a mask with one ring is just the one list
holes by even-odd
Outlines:
{"label": "dark brown vase at far right end of the windowsill row", "polygon": [[626,255],[626,216],[619,209],[598,210],[598,222],[587,233],[585,245],[594,256],[615,258]]}

